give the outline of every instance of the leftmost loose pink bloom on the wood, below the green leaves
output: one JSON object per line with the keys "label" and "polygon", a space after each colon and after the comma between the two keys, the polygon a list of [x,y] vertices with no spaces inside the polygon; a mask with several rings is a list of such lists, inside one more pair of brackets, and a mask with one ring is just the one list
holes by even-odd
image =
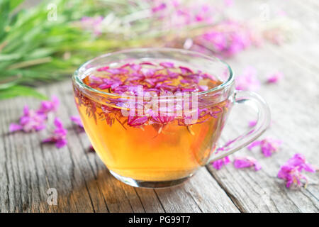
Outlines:
{"label": "leftmost loose pink bloom on the wood, below the green leaves", "polygon": [[11,123],[9,131],[24,131],[26,133],[40,131],[45,128],[46,118],[45,114],[30,110],[28,106],[24,106],[23,116],[21,116],[19,123]]}

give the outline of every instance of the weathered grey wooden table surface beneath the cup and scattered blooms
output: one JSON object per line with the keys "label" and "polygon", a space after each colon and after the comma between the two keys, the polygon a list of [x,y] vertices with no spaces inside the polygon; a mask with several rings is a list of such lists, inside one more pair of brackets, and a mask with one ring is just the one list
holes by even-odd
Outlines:
{"label": "weathered grey wooden table surface beneath the cup and scattered blooms", "polygon": [[[264,1],[235,4],[234,14],[250,9],[259,16]],[[308,187],[286,189],[276,178],[280,165],[295,153],[303,153],[319,166],[319,46],[318,1],[267,1],[270,16],[284,9],[301,23],[298,39],[276,47],[250,48],[232,60],[235,74],[247,65],[257,68],[264,81],[269,72],[280,70],[279,84],[263,84],[259,90],[272,109],[273,123],[266,135],[284,141],[279,153],[264,157],[259,151],[242,149],[235,155],[256,157],[262,170],[236,170],[227,165],[216,171],[207,165],[188,182],[169,189],[130,187],[111,176],[95,153],[90,153],[85,133],[69,121],[77,114],[70,79],[39,90],[57,95],[57,116],[68,128],[68,145],[60,150],[40,144],[47,131],[9,133],[23,105],[38,108],[39,101],[16,98],[0,101],[0,211],[1,212],[318,212],[319,176],[308,174]],[[246,14],[245,18],[252,16]],[[264,23],[267,23],[264,22]],[[251,116],[234,108],[223,141],[247,129]],[[245,116],[245,118],[242,118]],[[57,205],[50,205],[48,189],[56,189]],[[49,194],[47,194],[49,193]]]}

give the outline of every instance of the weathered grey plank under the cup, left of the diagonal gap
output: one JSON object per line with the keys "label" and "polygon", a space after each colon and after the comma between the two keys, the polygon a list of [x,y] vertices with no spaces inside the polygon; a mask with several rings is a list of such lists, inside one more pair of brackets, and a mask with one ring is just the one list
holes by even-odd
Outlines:
{"label": "weathered grey plank under the cup, left of the diagonal gap", "polygon": [[[55,145],[40,144],[50,135],[49,130],[38,133],[8,133],[9,123],[18,119],[23,104],[36,109],[39,101],[17,98],[1,101],[0,155],[1,211],[30,212],[201,212],[238,211],[216,180],[203,168],[186,184],[172,189],[135,189],[119,182],[106,170],[95,153],[89,153],[85,133],[69,121],[77,114],[71,82],[60,82],[41,89],[61,101],[56,116],[68,129],[69,141],[58,150]],[[13,156],[14,155],[14,156]],[[47,204],[47,189],[57,189],[57,206]]]}

